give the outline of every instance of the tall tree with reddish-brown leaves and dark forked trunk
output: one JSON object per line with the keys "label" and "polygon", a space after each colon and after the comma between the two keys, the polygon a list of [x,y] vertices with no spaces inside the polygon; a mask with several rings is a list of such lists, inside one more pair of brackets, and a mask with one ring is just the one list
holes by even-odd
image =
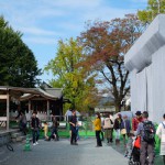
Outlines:
{"label": "tall tree with reddish-brown leaves and dark forked trunk", "polygon": [[100,87],[108,85],[117,111],[120,111],[122,100],[130,90],[129,72],[124,68],[123,57],[143,30],[138,16],[128,14],[124,19],[110,22],[89,22],[87,31],[79,37],[87,54],[81,65],[99,72],[101,77],[98,82]]}

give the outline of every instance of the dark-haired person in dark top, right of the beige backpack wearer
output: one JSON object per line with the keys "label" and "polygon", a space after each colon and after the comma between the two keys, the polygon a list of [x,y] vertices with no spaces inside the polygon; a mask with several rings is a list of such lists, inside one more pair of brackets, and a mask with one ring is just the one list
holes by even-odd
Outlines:
{"label": "dark-haired person in dark top, right of the beige backpack wearer", "polygon": [[113,129],[116,131],[116,145],[120,144],[121,123],[122,123],[122,118],[121,118],[121,114],[118,113],[118,117],[114,120],[114,125],[113,125]]}

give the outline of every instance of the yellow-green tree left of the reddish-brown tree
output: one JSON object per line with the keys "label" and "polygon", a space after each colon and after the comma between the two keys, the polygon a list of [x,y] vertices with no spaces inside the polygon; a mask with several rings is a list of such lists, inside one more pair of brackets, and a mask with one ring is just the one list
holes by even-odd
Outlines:
{"label": "yellow-green tree left of the reddish-brown tree", "polygon": [[78,66],[82,59],[82,47],[78,45],[77,40],[61,40],[55,58],[45,67],[45,70],[51,70],[54,75],[50,84],[63,88],[65,98],[80,111],[87,110],[97,101],[94,75],[88,76],[88,73]]}

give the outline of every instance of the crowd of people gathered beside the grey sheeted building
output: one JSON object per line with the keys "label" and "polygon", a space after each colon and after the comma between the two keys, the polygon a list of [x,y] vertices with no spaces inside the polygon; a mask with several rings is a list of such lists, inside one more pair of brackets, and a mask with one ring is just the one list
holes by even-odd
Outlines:
{"label": "crowd of people gathered beside the grey sheeted building", "polygon": [[163,121],[156,129],[154,123],[148,120],[148,112],[136,111],[133,119],[128,119],[128,116],[121,116],[118,113],[113,119],[111,114],[106,114],[106,118],[101,120],[100,113],[96,113],[96,120],[94,121],[97,147],[102,146],[101,132],[105,131],[105,139],[107,143],[113,142],[113,132],[116,145],[120,144],[121,138],[125,146],[125,157],[132,162],[136,162],[141,165],[154,165],[155,158],[155,135],[161,140],[161,152],[163,162],[165,165],[165,114]]}

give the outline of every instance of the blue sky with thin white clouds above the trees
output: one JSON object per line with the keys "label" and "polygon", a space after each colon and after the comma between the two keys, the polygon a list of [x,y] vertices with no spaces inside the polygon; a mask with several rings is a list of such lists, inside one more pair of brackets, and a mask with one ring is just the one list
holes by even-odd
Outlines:
{"label": "blue sky with thin white clouds above the trees", "polygon": [[[88,20],[109,21],[146,8],[147,0],[0,0],[0,15],[23,33],[38,67],[55,57],[59,38],[76,37]],[[52,79],[44,74],[42,80]]]}

